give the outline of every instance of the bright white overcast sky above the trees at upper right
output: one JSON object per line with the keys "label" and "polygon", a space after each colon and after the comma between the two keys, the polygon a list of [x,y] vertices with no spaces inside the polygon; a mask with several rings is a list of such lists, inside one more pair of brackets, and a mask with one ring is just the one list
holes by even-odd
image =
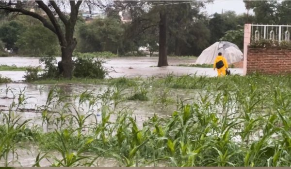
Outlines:
{"label": "bright white overcast sky above the trees at upper right", "polygon": [[205,9],[210,15],[214,13],[221,14],[222,10],[235,11],[236,14],[247,12],[242,0],[214,0],[213,3],[208,4]]}

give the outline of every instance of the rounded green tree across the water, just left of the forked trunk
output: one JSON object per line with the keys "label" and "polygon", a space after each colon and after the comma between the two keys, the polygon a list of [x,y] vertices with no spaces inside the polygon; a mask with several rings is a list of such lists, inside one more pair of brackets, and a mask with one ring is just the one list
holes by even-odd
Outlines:
{"label": "rounded green tree across the water, just left of the forked trunk", "polygon": [[42,25],[28,27],[16,42],[18,53],[29,56],[55,56],[60,53],[57,36]]}

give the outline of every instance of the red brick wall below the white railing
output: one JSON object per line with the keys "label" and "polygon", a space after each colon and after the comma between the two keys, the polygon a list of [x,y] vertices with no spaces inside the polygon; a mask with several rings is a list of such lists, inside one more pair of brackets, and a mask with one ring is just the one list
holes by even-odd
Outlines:
{"label": "red brick wall below the white railing", "polygon": [[246,73],[291,74],[291,48],[270,47],[247,50]]}

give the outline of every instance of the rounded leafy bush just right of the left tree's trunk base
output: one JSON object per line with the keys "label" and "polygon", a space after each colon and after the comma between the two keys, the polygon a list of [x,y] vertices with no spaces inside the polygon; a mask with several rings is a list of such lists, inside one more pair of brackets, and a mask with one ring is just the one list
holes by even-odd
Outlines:
{"label": "rounded leafy bush just right of the left tree's trunk base", "polygon": [[78,57],[74,61],[73,75],[75,77],[103,79],[107,71],[103,68],[102,63],[104,62],[99,58],[91,56]]}

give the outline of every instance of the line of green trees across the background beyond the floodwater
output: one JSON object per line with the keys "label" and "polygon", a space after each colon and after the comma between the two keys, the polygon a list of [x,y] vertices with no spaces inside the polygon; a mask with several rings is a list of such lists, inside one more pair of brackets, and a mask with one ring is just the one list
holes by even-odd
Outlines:
{"label": "line of green trees across the background beyond the floodwater", "polygon": [[[239,14],[226,11],[222,14],[202,13],[205,1],[156,5],[155,1],[114,1],[106,6],[105,19],[92,23],[78,17],[74,34],[77,38],[75,51],[110,51],[118,55],[133,54],[139,46],[148,46],[150,52],[159,51],[159,12],[164,8],[167,17],[166,50],[168,55],[194,55],[212,43],[229,41],[243,47],[245,23],[289,24],[291,1],[244,1],[245,7],[254,14]],[[176,3],[175,3],[176,2]],[[181,2],[181,1],[180,1]],[[183,1],[184,2],[184,1]],[[146,8],[151,6],[151,8]],[[132,21],[123,23],[118,15],[127,9]],[[0,47],[12,49],[17,55],[61,55],[57,37],[42,23],[26,15],[18,15],[4,22],[0,17]]]}

